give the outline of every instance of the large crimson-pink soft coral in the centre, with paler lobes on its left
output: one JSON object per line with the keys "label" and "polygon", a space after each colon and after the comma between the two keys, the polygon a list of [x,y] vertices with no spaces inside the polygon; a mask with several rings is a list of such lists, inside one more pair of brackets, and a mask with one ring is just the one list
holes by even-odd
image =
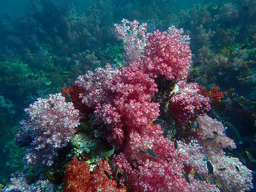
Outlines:
{"label": "large crimson-pink soft coral in the centre, with paler lobes on its left", "polygon": [[143,127],[159,116],[159,104],[150,102],[157,92],[154,79],[136,66],[111,70],[110,65],[98,68],[95,74],[80,76],[76,84],[85,90],[82,102],[94,107],[95,118],[109,125],[108,141],[118,149],[124,147],[125,132],[145,132]]}

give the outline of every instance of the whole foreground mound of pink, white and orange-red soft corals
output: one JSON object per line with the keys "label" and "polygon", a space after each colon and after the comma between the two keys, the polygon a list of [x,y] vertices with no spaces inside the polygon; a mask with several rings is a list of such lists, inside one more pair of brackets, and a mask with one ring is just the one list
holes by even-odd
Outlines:
{"label": "whole foreground mound of pink, white and orange-red soft corals", "polygon": [[[113,150],[92,173],[74,157],[66,168],[65,191],[250,190],[252,171],[237,157],[225,156],[223,148],[236,144],[223,124],[205,113],[211,110],[209,97],[186,81],[189,36],[174,26],[153,33],[146,27],[136,20],[115,24],[125,67],[106,65],[79,76],[68,88],[73,103],[58,93],[26,109],[30,118],[17,134],[18,145],[31,145],[26,162],[51,166],[76,134],[81,114],[93,111],[108,127]],[[166,131],[172,127],[176,138]]]}

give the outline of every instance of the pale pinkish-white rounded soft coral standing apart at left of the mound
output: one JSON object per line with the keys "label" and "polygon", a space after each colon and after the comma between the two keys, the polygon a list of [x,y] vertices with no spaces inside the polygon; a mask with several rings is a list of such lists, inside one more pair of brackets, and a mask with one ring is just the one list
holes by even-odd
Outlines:
{"label": "pale pinkish-white rounded soft coral standing apart at left of the mound", "polygon": [[28,164],[51,166],[58,150],[67,146],[76,133],[79,111],[61,93],[50,95],[49,99],[38,98],[25,111],[30,119],[20,122],[16,144],[31,145],[24,157]]}

